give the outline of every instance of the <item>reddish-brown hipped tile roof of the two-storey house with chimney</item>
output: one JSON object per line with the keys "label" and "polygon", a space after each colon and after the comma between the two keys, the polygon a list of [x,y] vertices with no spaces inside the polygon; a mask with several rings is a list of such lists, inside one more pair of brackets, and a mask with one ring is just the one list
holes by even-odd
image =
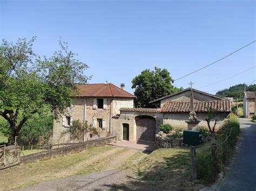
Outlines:
{"label": "reddish-brown hipped tile roof of the two-storey house with chimney", "polygon": [[135,95],[111,83],[78,85],[78,97],[119,97],[135,98]]}

